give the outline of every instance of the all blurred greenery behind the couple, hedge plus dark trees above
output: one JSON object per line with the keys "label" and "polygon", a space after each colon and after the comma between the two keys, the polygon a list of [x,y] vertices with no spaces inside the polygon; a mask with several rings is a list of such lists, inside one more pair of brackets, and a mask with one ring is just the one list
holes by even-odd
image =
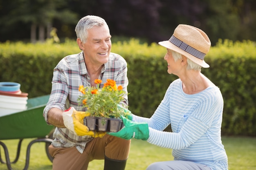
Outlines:
{"label": "all blurred greenery behind the couple, hedge plus dark trees above", "polygon": [[53,68],[80,52],[74,28],[85,15],[108,23],[112,52],[128,63],[129,109],[145,117],[177,79],[157,42],[178,24],[205,31],[213,47],[202,73],[222,91],[222,134],[256,136],[255,0],[0,0],[0,82],[21,83],[29,98],[49,94]]}

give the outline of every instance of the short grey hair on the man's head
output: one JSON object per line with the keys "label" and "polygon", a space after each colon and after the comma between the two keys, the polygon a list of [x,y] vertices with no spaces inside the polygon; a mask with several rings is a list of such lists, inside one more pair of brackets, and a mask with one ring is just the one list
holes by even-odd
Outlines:
{"label": "short grey hair on the man's head", "polygon": [[76,24],[75,32],[76,37],[80,38],[83,43],[86,42],[88,36],[88,30],[91,29],[93,26],[103,26],[108,24],[106,21],[98,16],[94,15],[87,15]]}

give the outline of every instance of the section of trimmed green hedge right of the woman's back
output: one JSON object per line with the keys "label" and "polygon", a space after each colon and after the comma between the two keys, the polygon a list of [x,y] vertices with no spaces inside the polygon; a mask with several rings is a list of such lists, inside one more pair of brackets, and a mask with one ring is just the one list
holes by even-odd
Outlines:
{"label": "section of trimmed green hedge right of the woman's back", "polygon": [[255,42],[219,40],[207,56],[203,73],[221,90],[224,98],[222,132],[256,135]]}

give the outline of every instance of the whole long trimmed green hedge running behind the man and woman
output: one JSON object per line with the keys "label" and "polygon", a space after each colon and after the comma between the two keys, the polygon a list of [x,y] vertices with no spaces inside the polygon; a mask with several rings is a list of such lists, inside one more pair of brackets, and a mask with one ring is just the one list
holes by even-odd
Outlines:
{"label": "whole long trimmed green hedge running behind the man and woman", "polygon": [[[75,41],[54,44],[0,44],[0,82],[18,82],[29,98],[49,94],[53,68],[66,55],[79,53]],[[128,63],[129,109],[136,115],[150,117],[164,97],[169,84],[177,79],[167,73],[166,49],[156,43],[139,40],[112,44],[112,52]],[[205,57],[210,68],[202,68],[222,91],[223,135],[256,136],[256,45],[252,41],[220,40]],[[167,129],[168,130],[168,129]]]}

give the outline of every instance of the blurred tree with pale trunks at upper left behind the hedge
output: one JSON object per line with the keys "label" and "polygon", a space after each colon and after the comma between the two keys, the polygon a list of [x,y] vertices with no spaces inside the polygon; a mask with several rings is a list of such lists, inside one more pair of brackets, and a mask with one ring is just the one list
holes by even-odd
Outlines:
{"label": "blurred tree with pale trunks at upper left behind the hedge", "polygon": [[68,10],[63,0],[12,0],[9,3],[1,1],[0,4],[4,6],[2,13],[5,15],[0,17],[4,27],[17,26],[17,23],[30,24],[31,42],[36,42],[37,27],[39,40],[44,41],[50,36],[54,19],[72,24],[77,20],[77,14]]}

